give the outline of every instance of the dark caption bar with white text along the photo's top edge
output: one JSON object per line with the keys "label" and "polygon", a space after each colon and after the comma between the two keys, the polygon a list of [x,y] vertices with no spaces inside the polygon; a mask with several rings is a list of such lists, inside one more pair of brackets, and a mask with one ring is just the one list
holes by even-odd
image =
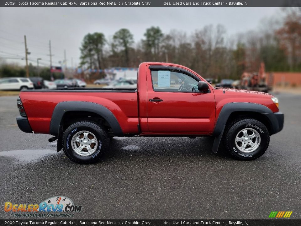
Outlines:
{"label": "dark caption bar with white text along the photo's top edge", "polygon": [[97,0],[69,0],[42,1],[19,0],[0,1],[0,7],[293,7],[301,6],[300,0],[145,0],[145,1],[97,1]]}

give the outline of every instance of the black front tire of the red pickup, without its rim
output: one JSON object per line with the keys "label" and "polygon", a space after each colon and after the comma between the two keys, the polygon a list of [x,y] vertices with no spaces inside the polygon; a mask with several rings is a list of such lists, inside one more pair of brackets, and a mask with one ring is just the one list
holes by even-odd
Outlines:
{"label": "black front tire of the red pickup, without its rim", "polygon": [[[245,153],[241,151],[235,142],[235,138],[238,133],[243,129],[252,129],[258,132],[260,136],[260,144],[250,153]],[[239,160],[254,160],[259,158],[267,150],[270,143],[270,134],[267,127],[258,120],[252,118],[240,118],[232,121],[232,123],[227,126],[224,133],[224,144],[230,153],[231,157]]]}

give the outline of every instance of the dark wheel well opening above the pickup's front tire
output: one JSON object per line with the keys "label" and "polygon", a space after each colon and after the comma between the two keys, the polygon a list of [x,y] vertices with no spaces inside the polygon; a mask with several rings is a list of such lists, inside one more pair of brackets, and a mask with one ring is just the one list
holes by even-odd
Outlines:
{"label": "dark wheel well opening above the pickup's front tire", "polygon": [[250,112],[250,111],[236,111],[232,112],[231,115],[229,116],[227,122],[226,122],[226,127],[233,121],[239,118],[253,118],[261,123],[263,123],[266,127],[269,133],[271,134],[272,132],[272,125],[270,120],[265,116],[264,114],[258,113],[258,112]]}

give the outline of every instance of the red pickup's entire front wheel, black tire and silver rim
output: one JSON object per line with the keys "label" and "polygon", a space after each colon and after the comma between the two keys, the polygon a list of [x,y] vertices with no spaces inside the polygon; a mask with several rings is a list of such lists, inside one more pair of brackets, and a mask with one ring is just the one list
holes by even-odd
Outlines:
{"label": "red pickup's entire front wheel, black tire and silver rim", "polygon": [[258,120],[244,118],[233,121],[225,131],[225,146],[235,159],[253,160],[267,150],[270,134]]}

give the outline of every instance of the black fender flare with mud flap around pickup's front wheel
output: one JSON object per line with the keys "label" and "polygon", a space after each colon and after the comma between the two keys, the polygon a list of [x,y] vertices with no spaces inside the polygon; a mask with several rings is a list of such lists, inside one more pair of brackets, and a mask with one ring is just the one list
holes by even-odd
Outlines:
{"label": "black fender flare with mud flap around pickup's front wheel", "polygon": [[239,112],[239,111],[248,111],[248,112],[265,114],[265,116],[267,116],[267,118],[270,121],[274,121],[273,117],[275,117],[274,114],[271,114],[273,113],[271,109],[261,104],[247,103],[247,102],[232,102],[232,103],[225,104],[219,113],[219,117],[216,121],[214,131],[212,133],[212,135],[215,137],[213,147],[212,147],[214,153],[217,153],[217,150],[219,149],[219,143],[223,136],[226,122],[228,121],[229,116],[233,112]]}

